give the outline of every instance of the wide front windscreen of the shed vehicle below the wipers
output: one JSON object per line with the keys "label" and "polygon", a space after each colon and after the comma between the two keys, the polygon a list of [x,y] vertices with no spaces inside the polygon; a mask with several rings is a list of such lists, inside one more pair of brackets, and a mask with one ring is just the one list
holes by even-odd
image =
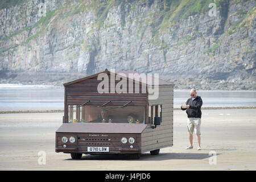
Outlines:
{"label": "wide front windscreen of the shed vehicle below the wipers", "polygon": [[68,106],[69,123],[144,123],[143,106]]}

